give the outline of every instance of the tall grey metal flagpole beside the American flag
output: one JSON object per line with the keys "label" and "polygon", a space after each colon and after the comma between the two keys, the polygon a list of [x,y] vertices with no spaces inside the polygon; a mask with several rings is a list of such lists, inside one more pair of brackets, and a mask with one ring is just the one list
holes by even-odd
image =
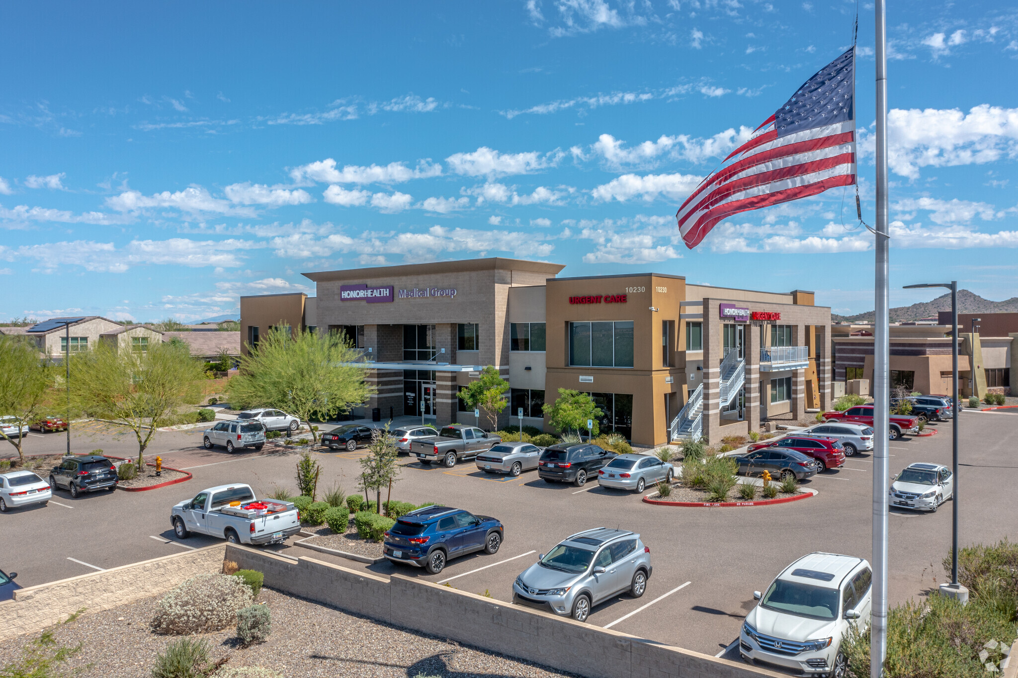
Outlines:
{"label": "tall grey metal flagpole beside the American flag", "polygon": [[888,314],[887,8],[876,15],[876,260],[873,281],[873,594],[869,676],[881,678],[888,633],[888,417],[891,407]]}

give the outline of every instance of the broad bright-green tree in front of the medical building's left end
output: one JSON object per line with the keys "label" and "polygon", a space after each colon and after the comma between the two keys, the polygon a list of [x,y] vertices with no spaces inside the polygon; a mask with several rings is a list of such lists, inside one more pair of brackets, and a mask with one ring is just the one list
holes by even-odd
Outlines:
{"label": "broad bright-green tree in front of the medical building's left end", "polygon": [[[351,364],[360,353],[332,332],[291,338],[277,328],[247,350],[227,387],[235,408],[276,407],[306,422],[348,412],[375,392],[364,382],[364,371]],[[318,440],[314,429],[312,439]]]}

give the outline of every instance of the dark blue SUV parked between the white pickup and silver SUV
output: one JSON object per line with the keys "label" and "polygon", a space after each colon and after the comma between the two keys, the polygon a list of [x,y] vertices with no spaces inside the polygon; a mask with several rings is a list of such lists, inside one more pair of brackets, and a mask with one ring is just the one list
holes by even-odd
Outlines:
{"label": "dark blue SUV parked between the white pickup and silver SUV", "polygon": [[426,506],[399,518],[385,533],[385,557],[441,572],[448,561],[474,551],[497,553],[505,531],[487,515],[449,506]]}

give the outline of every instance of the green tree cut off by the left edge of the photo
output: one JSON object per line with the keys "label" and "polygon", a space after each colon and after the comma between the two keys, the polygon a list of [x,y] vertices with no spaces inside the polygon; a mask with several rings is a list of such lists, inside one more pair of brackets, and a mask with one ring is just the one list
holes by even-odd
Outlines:
{"label": "green tree cut off by the left edge of the photo", "polygon": [[50,404],[50,387],[56,377],[47,360],[39,357],[35,343],[21,337],[0,337],[0,414],[14,416],[23,426],[23,433],[13,437],[0,431],[0,436],[17,450],[18,463],[24,464],[21,436],[29,425],[46,412]]}

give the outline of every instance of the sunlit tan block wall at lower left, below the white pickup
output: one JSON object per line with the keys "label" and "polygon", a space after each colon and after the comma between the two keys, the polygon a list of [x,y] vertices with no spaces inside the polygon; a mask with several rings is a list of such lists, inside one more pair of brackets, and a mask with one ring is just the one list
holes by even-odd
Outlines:
{"label": "sunlit tan block wall at lower left, below the white pickup", "polygon": [[14,591],[0,603],[0,640],[38,633],[86,608],[89,612],[166,594],[184,579],[219,572],[226,545],[113,567]]}

